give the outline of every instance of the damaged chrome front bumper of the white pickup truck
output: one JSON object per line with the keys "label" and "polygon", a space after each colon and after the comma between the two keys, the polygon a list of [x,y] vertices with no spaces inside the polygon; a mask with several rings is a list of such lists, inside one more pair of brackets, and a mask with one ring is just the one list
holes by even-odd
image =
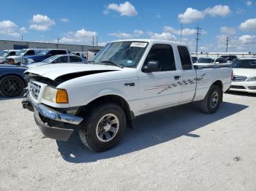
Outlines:
{"label": "damaged chrome front bumper of the white pickup truck", "polygon": [[[58,112],[44,104],[36,104],[31,100],[30,95],[27,94],[22,100],[24,109],[34,112],[34,120],[36,121],[39,129],[42,133],[50,139],[56,139],[60,141],[67,141],[69,136],[73,133],[73,129],[53,127],[49,125],[47,120],[53,120],[56,122],[69,123],[72,125],[79,125],[83,121],[82,117],[78,117],[72,114],[65,114]],[[45,120],[45,118],[47,120]]]}

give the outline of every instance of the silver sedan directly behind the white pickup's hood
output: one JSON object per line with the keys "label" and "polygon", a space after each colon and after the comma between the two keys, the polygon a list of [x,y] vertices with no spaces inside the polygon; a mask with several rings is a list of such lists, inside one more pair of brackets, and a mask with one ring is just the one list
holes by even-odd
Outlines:
{"label": "silver sedan directly behind the white pickup's hood", "polygon": [[50,63],[86,63],[86,59],[78,55],[53,55],[39,63],[29,63],[25,66],[28,68],[42,66]]}

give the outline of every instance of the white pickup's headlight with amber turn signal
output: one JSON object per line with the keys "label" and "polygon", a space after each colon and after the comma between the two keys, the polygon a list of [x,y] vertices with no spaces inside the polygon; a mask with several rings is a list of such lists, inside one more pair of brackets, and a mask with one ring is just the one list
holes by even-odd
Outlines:
{"label": "white pickup's headlight with amber turn signal", "polygon": [[67,91],[63,89],[56,89],[54,87],[46,86],[42,98],[57,104],[68,104],[69,98]]}

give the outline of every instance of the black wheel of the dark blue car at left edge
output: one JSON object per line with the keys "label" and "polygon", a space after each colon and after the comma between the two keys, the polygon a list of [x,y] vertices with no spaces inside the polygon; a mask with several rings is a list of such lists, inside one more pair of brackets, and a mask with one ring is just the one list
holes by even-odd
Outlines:
{"label": "black wheel of the dark blue car at left edge", "polygon": [[23,93],[24,82],[20,77],[7,76],[0,80],[0,94],[4,97],[15,97]]}

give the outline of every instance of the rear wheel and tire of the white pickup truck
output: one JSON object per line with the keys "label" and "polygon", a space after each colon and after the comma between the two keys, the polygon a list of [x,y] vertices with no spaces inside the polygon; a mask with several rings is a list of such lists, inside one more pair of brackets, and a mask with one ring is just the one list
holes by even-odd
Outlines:
{"label": "rear wheel and tire of the white pickup truck", "polygon": [[217,112],[219,105],[222,102],[222,90],[218,85],[211,85],[206,97],[200,101],[200,109],[202,112],[212,114]]}

